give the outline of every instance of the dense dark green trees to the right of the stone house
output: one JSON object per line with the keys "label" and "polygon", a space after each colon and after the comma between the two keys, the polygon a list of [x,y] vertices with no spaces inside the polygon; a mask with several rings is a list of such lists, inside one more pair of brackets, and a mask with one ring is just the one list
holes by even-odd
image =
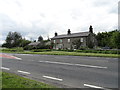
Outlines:
{"label": "dense dark green trees to the right of the stone house", "polygon": [[120,49],[120,30],[102,32],[96,35],[99,47],[110,47]]}

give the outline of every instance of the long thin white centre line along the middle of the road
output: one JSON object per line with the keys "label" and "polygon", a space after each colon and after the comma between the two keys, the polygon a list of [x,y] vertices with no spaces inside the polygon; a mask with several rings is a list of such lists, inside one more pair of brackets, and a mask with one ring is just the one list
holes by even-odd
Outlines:
{"label": "long thin white centre line along the middle of the road", "polygon": [[101,68],[106,69],[107,67],[102,66],[93,66],[93,65],[84,65],[84,64],[72,64],[72,63],[62,63],[62,62],[51,62],[51,61],[39,61],[42,63],[52,63],[52,64],[62,64],[62,65],[71,65],[71,66],[82,66],[82,67],[91,67],[91,68]]}

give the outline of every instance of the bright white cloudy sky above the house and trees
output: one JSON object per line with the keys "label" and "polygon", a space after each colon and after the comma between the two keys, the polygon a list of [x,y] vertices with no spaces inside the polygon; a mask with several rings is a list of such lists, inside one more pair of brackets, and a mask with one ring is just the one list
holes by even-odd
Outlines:
{"label": "bright white cloudy sky above the house and trees", "polygon": [[8,32],[27,40],[71,33],[105,32],[118,28],[119,0],[0,0],[0,44]]}

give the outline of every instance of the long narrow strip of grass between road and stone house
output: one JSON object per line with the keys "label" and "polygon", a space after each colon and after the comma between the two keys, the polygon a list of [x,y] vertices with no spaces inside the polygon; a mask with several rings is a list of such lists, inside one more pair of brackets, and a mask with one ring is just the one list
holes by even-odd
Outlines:
{"label": "long narrow strip of grass between road and stone house", "polygon": [[120,57],[119,54],[67,52],[67,51],[44,51],[44,52],[32,52],[32,51],[11,52],[11,51],[2,51],[2,52],[4,52],[4,53],[19,53],[19,54],[70,55],[70,56],[93,56],[93,57],[111,57],[111,58],[119,58]]}

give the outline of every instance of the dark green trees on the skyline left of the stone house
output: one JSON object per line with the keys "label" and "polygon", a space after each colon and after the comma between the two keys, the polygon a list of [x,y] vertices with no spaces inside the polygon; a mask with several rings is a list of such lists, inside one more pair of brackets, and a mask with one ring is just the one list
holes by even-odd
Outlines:
{"label": "dark green trees on the skyline left of the stone house", "polygon": [[[43,37],[40,35],[38,37],[38,42],[45,42],[46,40],[43,40]],[[36,42],[36,40],[30,41],[26,40],[25,38],[22,38],[22,35],[19,32],[9,32],[5,43],[2,44],[2,47],[6,48],[14,48],[14,47],[26,47],[29,43]]]}

